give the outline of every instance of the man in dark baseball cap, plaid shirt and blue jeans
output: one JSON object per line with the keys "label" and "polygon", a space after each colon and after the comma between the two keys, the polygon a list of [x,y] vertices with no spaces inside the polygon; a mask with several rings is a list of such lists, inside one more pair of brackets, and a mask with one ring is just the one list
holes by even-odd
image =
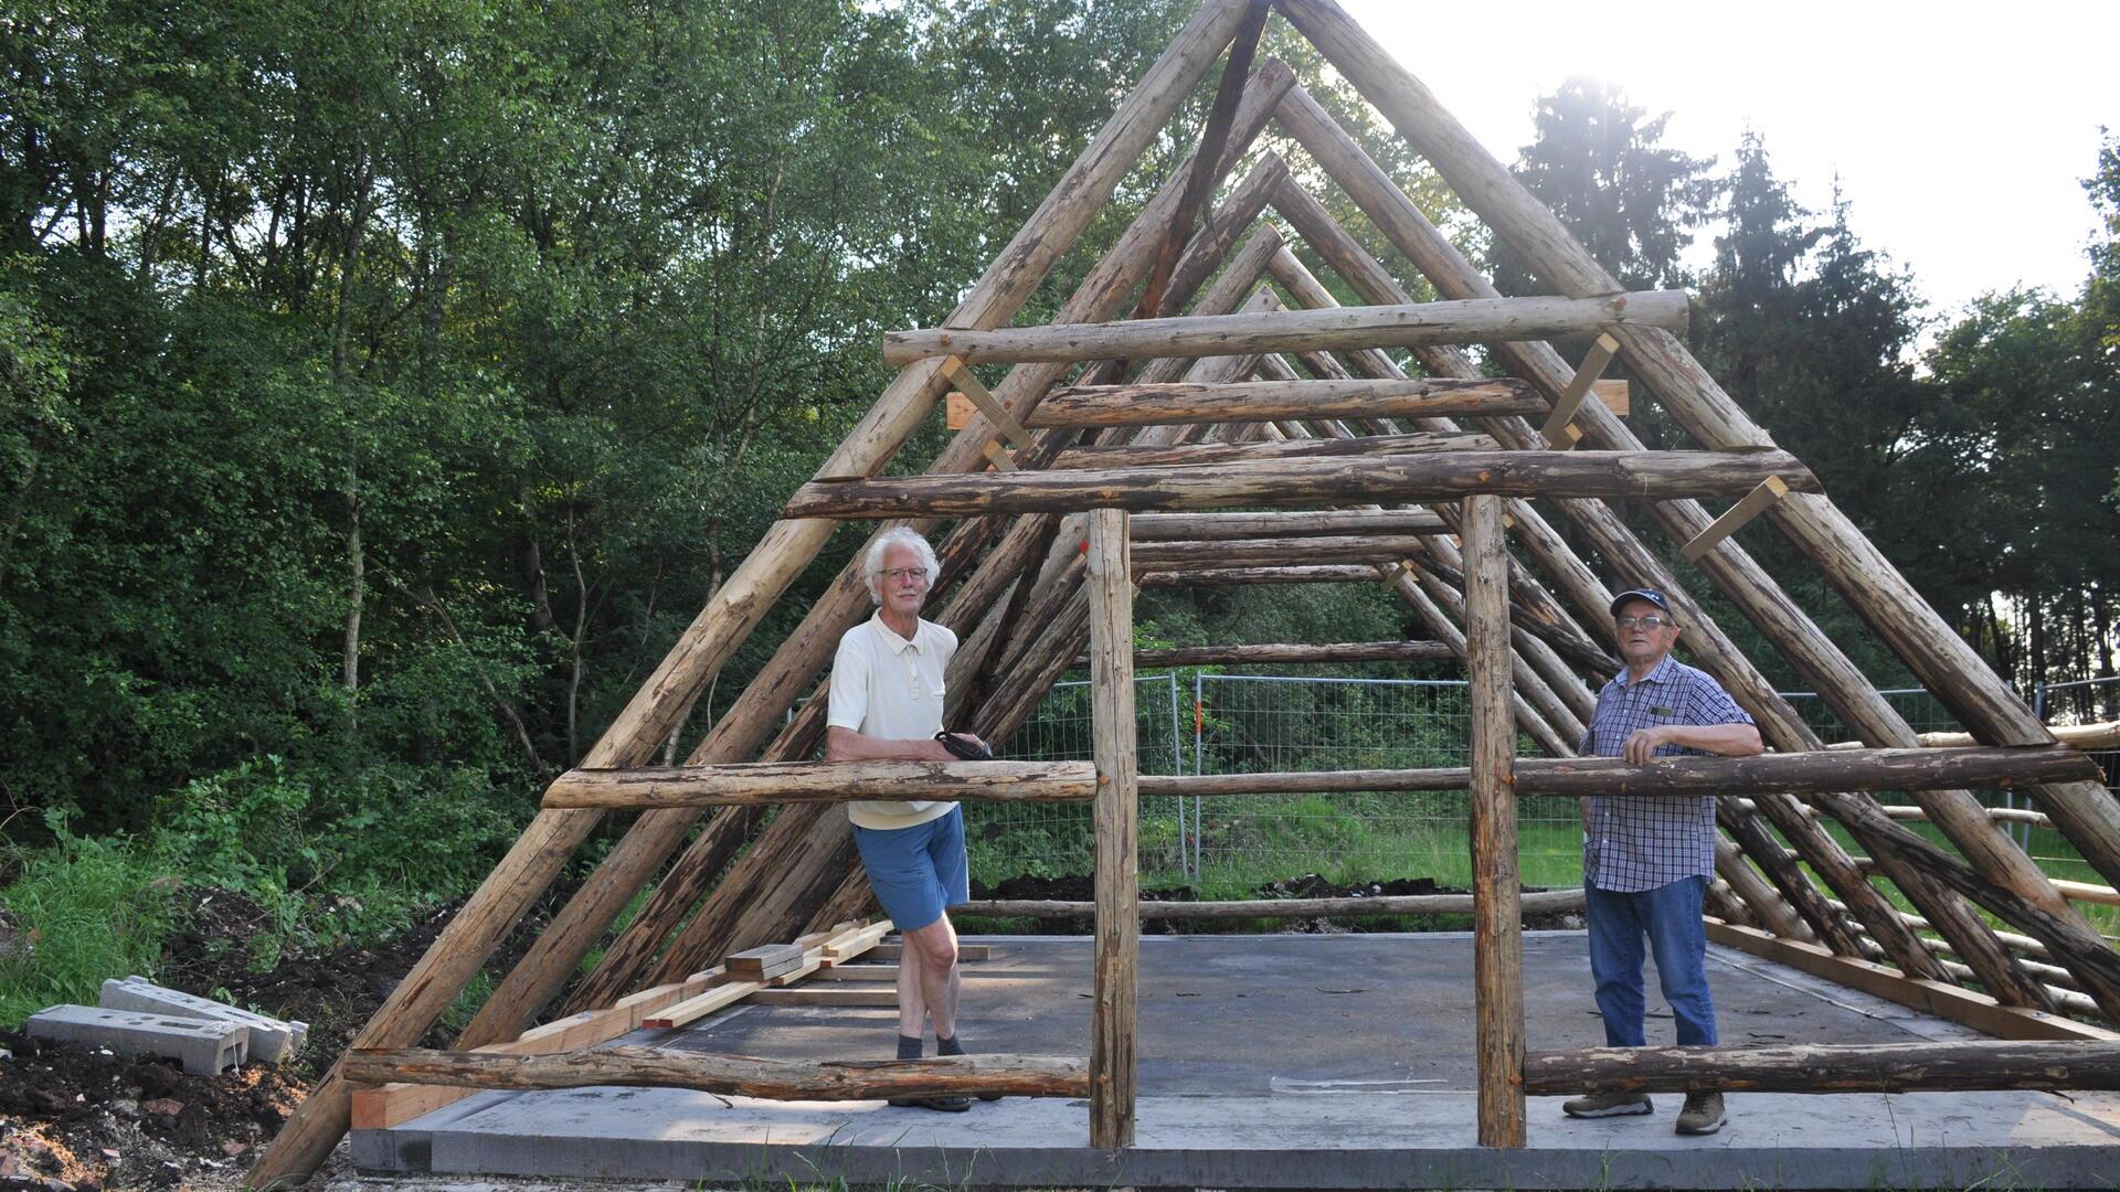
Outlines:
{"label": "man in dark baseball cap, plaid shirt and blue jeans", "polygon": [[[1611,602],[1626,670],[1596,694],[1584,755],[1649,757],[1760,753],[1760,730],[1707,672],[1671,658],[1679,621],[1671,598],[1630,588]],[[1590,976],[1605,1018],[1605,1046],[1641,1048],[1643,940],[1677,1022],[1679,1046],[1715,1046],[1709,997],[1707,929],[1700,897],[1715,874],[1715,800],[1666,795],[1590,795],[1584,800],[1584,918],[1590,925]],[[1645,1092],[1592,1092],[1560,1107],[1571,1118],[1649,1114]],[[1690,1092],[1681,1135],[1713,1135],[1724,1124],[1721,1092]]]}

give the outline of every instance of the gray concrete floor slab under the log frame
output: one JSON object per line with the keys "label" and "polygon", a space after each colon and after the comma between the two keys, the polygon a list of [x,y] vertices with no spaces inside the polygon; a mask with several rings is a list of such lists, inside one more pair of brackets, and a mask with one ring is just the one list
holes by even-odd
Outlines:
{"label": "gray concrete floor slab under the log frame", "polygon": [[[1085,1054],[1090,942],[994,937],[967,965],[973,1050]],[[1721,1041],[1969,1039],[1753,957],[1711,948]],[[1603,1044],[1579,931],[1524,940],[1533,1050]],[[825,982],[814,982],[825,986]],[[844,988],[848,982],[831,982]],[[1649,1039],[1671,1014],[1649,974]],[[734,1007],[628,1044],[776,1058],[886,1056],[893,1010]],[[1081,1101],[971,1114],[770,1103],[678,1090],[483,1092],[356,1130],[377,1173],[687,1181],[1168,1188],[2112,1188],[2120,1097],[2035,1092],[1745,1094],[1709,1139],[1649,1118],[1575,1122],[1533,1099],[1531,1145],[1473,1143],[1469,935],[1143,940],[1138,1139],[1088,1147]]]}

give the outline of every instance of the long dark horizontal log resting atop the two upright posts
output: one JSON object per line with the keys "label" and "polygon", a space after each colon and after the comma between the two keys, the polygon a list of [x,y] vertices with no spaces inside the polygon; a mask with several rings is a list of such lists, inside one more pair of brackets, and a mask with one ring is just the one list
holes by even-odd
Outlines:
{"label": "long dark horizontal log resting atop the two upright posts", "polygon": [[1787,452],[1463,452],[1255,460],[1219,469],[1151,467],[812,479],[784,518],[973,518],[1081,509],[1213,509],[1497,496],[1743,496],[1766,477],[1815,492]]}

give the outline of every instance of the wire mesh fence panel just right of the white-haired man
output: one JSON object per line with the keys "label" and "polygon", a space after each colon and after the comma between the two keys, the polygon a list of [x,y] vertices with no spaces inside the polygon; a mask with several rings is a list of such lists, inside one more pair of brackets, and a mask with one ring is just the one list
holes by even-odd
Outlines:
{"label": "wire mesh fence panel just right of the white-haired man", "polygon": [[[1183,774],[1187,740],[1179,734],[1174,674],[1134,677],[1134,744],[1141,774]],[[1015,761],[1090,761],[1090,685],[1054,683],[1039,708],[994,753]],[[1094,870],[1090,804],[965,802],[965,842],[971,876],[994,884],[1003,878],[1088,876]],[[1141,800],[1143,878],[1181,872],[1179,806],[1174,797]]]}

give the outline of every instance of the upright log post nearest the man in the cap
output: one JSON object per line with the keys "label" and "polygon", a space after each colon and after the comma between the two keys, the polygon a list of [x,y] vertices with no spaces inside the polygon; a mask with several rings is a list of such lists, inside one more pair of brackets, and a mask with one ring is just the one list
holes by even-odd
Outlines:
{"label": "upright log post nearest the man in the cap", "polygon": [[1516,719],[1501,498],[1465,498],[1465,664],[1471,672],[1471,971],[1480,1145],[1524,1145],[1524,921],[1516,872]]}

